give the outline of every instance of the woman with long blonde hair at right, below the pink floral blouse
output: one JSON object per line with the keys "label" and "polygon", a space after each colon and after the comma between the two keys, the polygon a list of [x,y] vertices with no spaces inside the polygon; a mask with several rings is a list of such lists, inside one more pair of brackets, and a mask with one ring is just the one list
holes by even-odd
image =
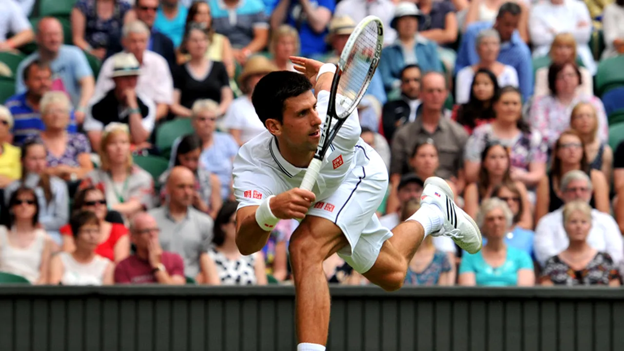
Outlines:
{"label": "woman with long blonde hair at right, below the pink floral blouse", "polygon": [[613,168],[613,150],[611,147],[598,139],[598,115],[595,107],[587,102],[580,102],[572,109],[570,127],[578,132],[578,136],[585,144],[585,157],[590,169],[602,171],[611,184],[611,171]]}

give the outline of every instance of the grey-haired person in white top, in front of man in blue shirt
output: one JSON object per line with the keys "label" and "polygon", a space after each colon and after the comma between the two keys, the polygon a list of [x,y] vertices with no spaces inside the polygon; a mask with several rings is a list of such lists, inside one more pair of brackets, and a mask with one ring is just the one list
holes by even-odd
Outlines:
{"label": "grey-haired person in white top, in front of man in blue shirt", "polygon": [[502,64],[497,60],[500,52],[500,35],[495,29],[484,29],[477,36],[477,54],[479,63],[467,66],[457,72],[455,84],[455,101],[457,104],[465,104],[470,99],[472,80],[479,69],[484,68],[492,71],[496,76],[499,87],[518,87],[518,72],[508,64]]}

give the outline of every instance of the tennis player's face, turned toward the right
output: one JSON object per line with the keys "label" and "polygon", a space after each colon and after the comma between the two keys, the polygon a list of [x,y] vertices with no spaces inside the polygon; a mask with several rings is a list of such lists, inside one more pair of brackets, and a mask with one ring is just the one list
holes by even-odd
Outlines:
{"label": "tennis player's face, turned toward the right", "polygon": [[280,142],[296,151],[315,151],[321,139],[321,119],[316,112],[316,97],[311,91],[284,102],[281,124],[273,127]]}

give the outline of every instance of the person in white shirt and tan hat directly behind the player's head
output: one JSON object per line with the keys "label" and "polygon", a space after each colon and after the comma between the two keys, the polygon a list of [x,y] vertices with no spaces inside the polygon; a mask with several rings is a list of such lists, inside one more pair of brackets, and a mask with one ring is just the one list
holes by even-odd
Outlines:
{"label": "person in white shirt and tan hat directly behind the player's head", "polygon": [[238,87],[245,95],[232,102],[223,118],[223,127],[230,131],[239,146],[265,131],[265,126],[251,104],[251,94],[262,77],[277,70],[273,62],[261,55],[252,56],[245,63],[245,68],[238,77]]}

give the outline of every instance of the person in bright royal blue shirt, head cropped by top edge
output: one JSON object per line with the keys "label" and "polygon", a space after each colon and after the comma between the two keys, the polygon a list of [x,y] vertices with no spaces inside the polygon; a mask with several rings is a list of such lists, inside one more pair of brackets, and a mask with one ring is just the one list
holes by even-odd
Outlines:
{"label": "person in bright royal blue shirt, head cropped by top edge", "polygon": [[271,16],[271,28],[286,21],[299,32],[301,56],[324,54],[327,26],[335,8],[335,0],[280,0]]}

